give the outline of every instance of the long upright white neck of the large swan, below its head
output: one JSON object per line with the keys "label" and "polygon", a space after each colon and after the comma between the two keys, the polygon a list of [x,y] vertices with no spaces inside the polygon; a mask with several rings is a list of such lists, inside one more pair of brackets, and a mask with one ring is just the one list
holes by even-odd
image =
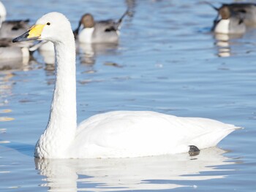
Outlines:
{"label": "long upright white neck of the large swan, below its head", "polygon": [[[73,36],[71,36],[73,37]],[[39,158],[64,158],[65,150],[75,137],[77,127],[75,40],[56,42],[56,85],[50,118],[44,134],[37,142]]]}

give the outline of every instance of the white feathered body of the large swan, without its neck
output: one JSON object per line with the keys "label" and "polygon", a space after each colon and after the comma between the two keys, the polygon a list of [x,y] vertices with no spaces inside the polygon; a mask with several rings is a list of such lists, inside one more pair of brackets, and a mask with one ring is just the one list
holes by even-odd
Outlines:
{"label": "white feathered body of the large swan, without its neck", "polygon": [[200,149],[215,146],[235,129],[206,118],[178,118],[158,112],[107,112],[80,123],[70,153],[74,158],[185,153],[189,145]]}

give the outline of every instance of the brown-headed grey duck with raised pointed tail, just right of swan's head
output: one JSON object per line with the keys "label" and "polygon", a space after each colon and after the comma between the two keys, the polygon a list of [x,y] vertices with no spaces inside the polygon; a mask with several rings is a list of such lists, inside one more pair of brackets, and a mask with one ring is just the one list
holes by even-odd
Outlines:
{"label": "brown-headed grey duck with raised pointed tail, just right of swan's head", "polygon": [[[75,29],[74,34],[80,43],[118,43],[121,23],[128,10],[116,22],[115,20],[94,21],[90,13],[84,14]],[[80,26],[83,29],[80,31]]]}

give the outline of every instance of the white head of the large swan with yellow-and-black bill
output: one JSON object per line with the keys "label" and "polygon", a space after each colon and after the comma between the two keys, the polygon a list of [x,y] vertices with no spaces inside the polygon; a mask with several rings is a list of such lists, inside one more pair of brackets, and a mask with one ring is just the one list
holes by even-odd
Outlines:
{"label": "white head of the large swan with yellow-and-black bill", "polygon": [[12,42],[23,42],[29,40],[47,40],[51,42],[62,42],[72,34],[69,20],[59,13],[50,12],[37,20],[29,31],[12,40]]}

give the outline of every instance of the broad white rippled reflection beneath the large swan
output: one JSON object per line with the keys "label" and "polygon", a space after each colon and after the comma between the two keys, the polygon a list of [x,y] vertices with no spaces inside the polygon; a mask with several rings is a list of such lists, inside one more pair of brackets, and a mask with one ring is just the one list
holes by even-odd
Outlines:
{"label": "broad white rippled reflection beneath the large swan", "polygon": [[227,166],[220,169],[219,166],[235,163],[223,153],[225,150],[211,147],[201,150],[197,156],[184,153],[143,158],[36,158],[35,164],[39,174],[46,177],[46,183],[41,186],[48,187],[49,191],[163,190],[192,187],[181,185],[182,181],[227,177],[225,174],[231,169]]}

